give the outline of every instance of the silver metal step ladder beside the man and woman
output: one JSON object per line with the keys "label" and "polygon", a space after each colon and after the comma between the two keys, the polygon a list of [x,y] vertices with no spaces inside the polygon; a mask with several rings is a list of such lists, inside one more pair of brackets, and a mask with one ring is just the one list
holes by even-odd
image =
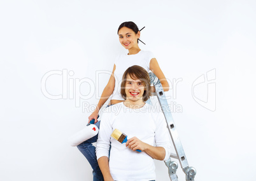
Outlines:
{"label": "silver metal step ladder beside the man and woman", "polygon": [[162,88],[162,84],[155,74],[152,72],[150,75],[150,83],[155,86],[155,93],[157,95],[157,99],[159,100],[160,107],[162,112],[164,113],[164,117],[166,118],[167,128],[171,135],[171,140],[173,141],[174,149],[176,154],[171,154],[170,158],[165,161],[166,166],[169,169],[169,177],[171,181],[178,180],[178,176],[176,175],[176,170],[178,168],[178,164],[175,161],[171,161],[171,158],[178,159],[180,161],[181,168],[183,172],[186,174],[186,181],[194,181],[194,177],[196,176],[196,169],[188,166],[187,157],[185,156],[185,152],[180,142],[180,138],[178,136],[178,132],[176,130],[176,126],[173,121],[173,116],[171,112],[167,110],[168,104],[166,96],[164,95],[164,90]]}

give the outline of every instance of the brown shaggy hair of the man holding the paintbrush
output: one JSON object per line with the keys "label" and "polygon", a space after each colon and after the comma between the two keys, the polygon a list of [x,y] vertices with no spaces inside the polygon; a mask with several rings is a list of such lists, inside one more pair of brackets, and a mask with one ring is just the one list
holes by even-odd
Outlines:
{"label": "brown shaggy hair of the man holding the paintbrush", "polygon": [[127,70],[125,70],[121,83],[121,95],[125,100],[125,84],[127,81],[127,75],[129,75],[134,80],[139,79],[141,81],[141,83],[145,87],[143,93],[143,101],[145,102],[146,100],[148,100],[148,98],[150,98],[151,95],[150,76],[148,72],[139,65],[133,65],[132,67],[129,67]]}

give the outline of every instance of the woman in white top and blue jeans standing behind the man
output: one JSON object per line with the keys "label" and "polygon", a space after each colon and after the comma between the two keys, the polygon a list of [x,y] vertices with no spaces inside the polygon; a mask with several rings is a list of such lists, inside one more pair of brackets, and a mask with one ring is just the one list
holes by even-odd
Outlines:
{"label": "woman in white top and blue jeans standing behind the man", "polygon": [[[128,67],[131,67],[132,65],[139,65],[147,72],[151,70],[159,78],[164,91],[169,90],[169,84],[167,83],[166,77],[160,69],[156,58],[153,56],[153,53],[151,51],[143,51],[138,46],[141,32],[139,32],[137,25],[134,22],[124,22],[118,27],[117,34],[120,43],[129,52],[125,55],[119,55],[115,60],[110,80],[103,90],[95,111],[89,116],[88,122],[95,119],[95,123],[98,128],[100,121],[98,122],[97,117],[99,115],[99,110],[104,105],[106,100],[113,95],[111,97],[110,105],[124,102],[124,98],[120,94],[120,83],[122,81],[122,76]],[[103,180],[103,175],[97,163],[95,147],[92,145],[92,143],[96,141],[97,135],[83,142],[77,147],[92,166],[94,181],[101,181]]]}

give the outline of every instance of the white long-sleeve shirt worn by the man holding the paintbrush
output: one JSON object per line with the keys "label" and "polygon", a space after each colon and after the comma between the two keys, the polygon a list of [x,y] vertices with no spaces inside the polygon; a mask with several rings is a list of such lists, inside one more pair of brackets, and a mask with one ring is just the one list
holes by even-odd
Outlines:
{"label": "white long-sleeve shirt worn by the man holding the paintbrush", "polygon": [[[139,109],[126,107],[123,102],[106,108],[101,117],[101,125],[96,145],[97,159],[109,156],[110,173],[114,180],[155,180],[155,164],[146,152],[132,151],[110,135],[117,128],[127,138],[137,137],[146,144],[164,147],[166,156],[171,154],[171,139],[167,131],[164,114],[145,104]],[[111,144],[111,149],[110,149]]]}

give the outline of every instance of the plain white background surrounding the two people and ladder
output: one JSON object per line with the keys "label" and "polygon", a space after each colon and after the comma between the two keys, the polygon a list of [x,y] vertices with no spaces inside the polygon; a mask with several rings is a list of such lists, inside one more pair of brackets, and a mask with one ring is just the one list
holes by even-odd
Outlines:
{"label": "plain white background surrounding the two people and ladder", "polygon": [[[146,27],[139,46],[155,54],[170,83],[182,78],[168,101],[182,107],[173,117],[195,180],[254,180],[255,8],[255,1],[227,0],[1,1],[0,180],[92,180],[89,163],[68,144],[90,111],[72,97],[45,97],[41,79],[72,70],[69,79],[95,82],[97,70],[111,71],[115,56],[127,53],[117,29],[130,20]],[[213,69],[216,111],[192,97],[193,82]],[[108,77],[99,77],[99,94]],[[49,77],[46,89],[61,95],[62,76]],[[206,100],[207,83],[194,91]],[[97,101],[94,94],[81,103]],[[157,180],[169,180],[164,163],[156,167]],[[178,176],[185,180],[180,167]]]}

